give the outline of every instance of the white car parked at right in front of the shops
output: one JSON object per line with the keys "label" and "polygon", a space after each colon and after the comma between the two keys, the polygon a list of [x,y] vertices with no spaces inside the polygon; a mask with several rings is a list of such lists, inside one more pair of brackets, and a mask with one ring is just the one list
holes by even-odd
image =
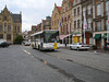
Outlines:
{"label": "white car parked at right in front of the shops", "polygon": [[83,50],[87,50],[87,49],[89,49],[89,46],[88,45],[84,45],[82,43],[75,43],[75,44],[70,45],[70,49],[77,49],[77,50],[83,49]]}

